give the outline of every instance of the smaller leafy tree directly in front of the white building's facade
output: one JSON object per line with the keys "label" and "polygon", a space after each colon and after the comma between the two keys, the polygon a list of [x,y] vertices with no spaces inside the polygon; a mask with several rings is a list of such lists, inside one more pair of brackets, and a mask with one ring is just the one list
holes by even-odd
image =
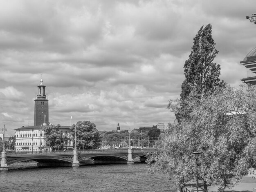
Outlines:
{"label": "smaller leafy tree directly in front of the white building's facade", "polygon": [[49,125],[43,128],[45,132],[45,145],[51,147],[52,149],[63,150],[65,147],[64,141],[67,136],[61,133],[59,127],[61,127],[60,124],[57,126]]}

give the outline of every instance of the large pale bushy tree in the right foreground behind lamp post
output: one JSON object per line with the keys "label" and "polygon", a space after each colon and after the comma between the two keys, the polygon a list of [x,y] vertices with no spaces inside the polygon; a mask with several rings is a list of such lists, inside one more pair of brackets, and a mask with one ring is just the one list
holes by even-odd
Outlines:
{"label": "large pale bushy tree in the right foreground behind lamp post", "polygon": [[148,156],[149,171],[161,170],[184,186],[195,178],[191,154],[198,151],[200,179],[222,192],[256,169],[256,87],[243,88],[218,88],[200,102],[189,95],[191,118],[168,125],[168,134]]}

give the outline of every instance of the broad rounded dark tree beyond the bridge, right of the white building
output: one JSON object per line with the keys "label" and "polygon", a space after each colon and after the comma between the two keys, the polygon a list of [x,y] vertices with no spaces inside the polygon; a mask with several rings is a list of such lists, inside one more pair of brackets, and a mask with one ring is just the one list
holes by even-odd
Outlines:
{"label": "broad rounded dark tree beyond the bridge, right of the white building", "polygon": [[70,128],[73,142],[75,141],[75,129],[77,149],[92,149],[90,142],[93,142],[94,149],[101,146],[100,134],[94,123],[90,121],[78,121],[76,125],[73,125]]}

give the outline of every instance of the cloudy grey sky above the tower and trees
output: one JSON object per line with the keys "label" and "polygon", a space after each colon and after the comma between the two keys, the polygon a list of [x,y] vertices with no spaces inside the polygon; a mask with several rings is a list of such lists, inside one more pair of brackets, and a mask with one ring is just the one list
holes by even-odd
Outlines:
{"label": "cloudy grey sky above the tower and trees", "polygon": [[[2,0],[0,127],[34,125],[43,77],[49,122],[99,130],[175,120],[193,37],[211,23],[220,79],[238,87],[256,47],[255,0]],[[0,130],[2,133],[2,131]]]}

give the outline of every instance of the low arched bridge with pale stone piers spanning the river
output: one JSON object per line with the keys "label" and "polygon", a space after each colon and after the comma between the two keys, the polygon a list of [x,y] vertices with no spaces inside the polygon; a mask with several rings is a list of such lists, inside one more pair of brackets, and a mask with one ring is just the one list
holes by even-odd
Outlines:
{"label": "low arched bridge with pale stone piers spanning the river", "polygon": [[93,163],[134,163],[136,157],[145,158],[153,148],[67,150],[56,152],[2,152],[0,170],[8,170],[9,165],[21,161],[37,161],[39,167],[79,166],[88,160]]}

